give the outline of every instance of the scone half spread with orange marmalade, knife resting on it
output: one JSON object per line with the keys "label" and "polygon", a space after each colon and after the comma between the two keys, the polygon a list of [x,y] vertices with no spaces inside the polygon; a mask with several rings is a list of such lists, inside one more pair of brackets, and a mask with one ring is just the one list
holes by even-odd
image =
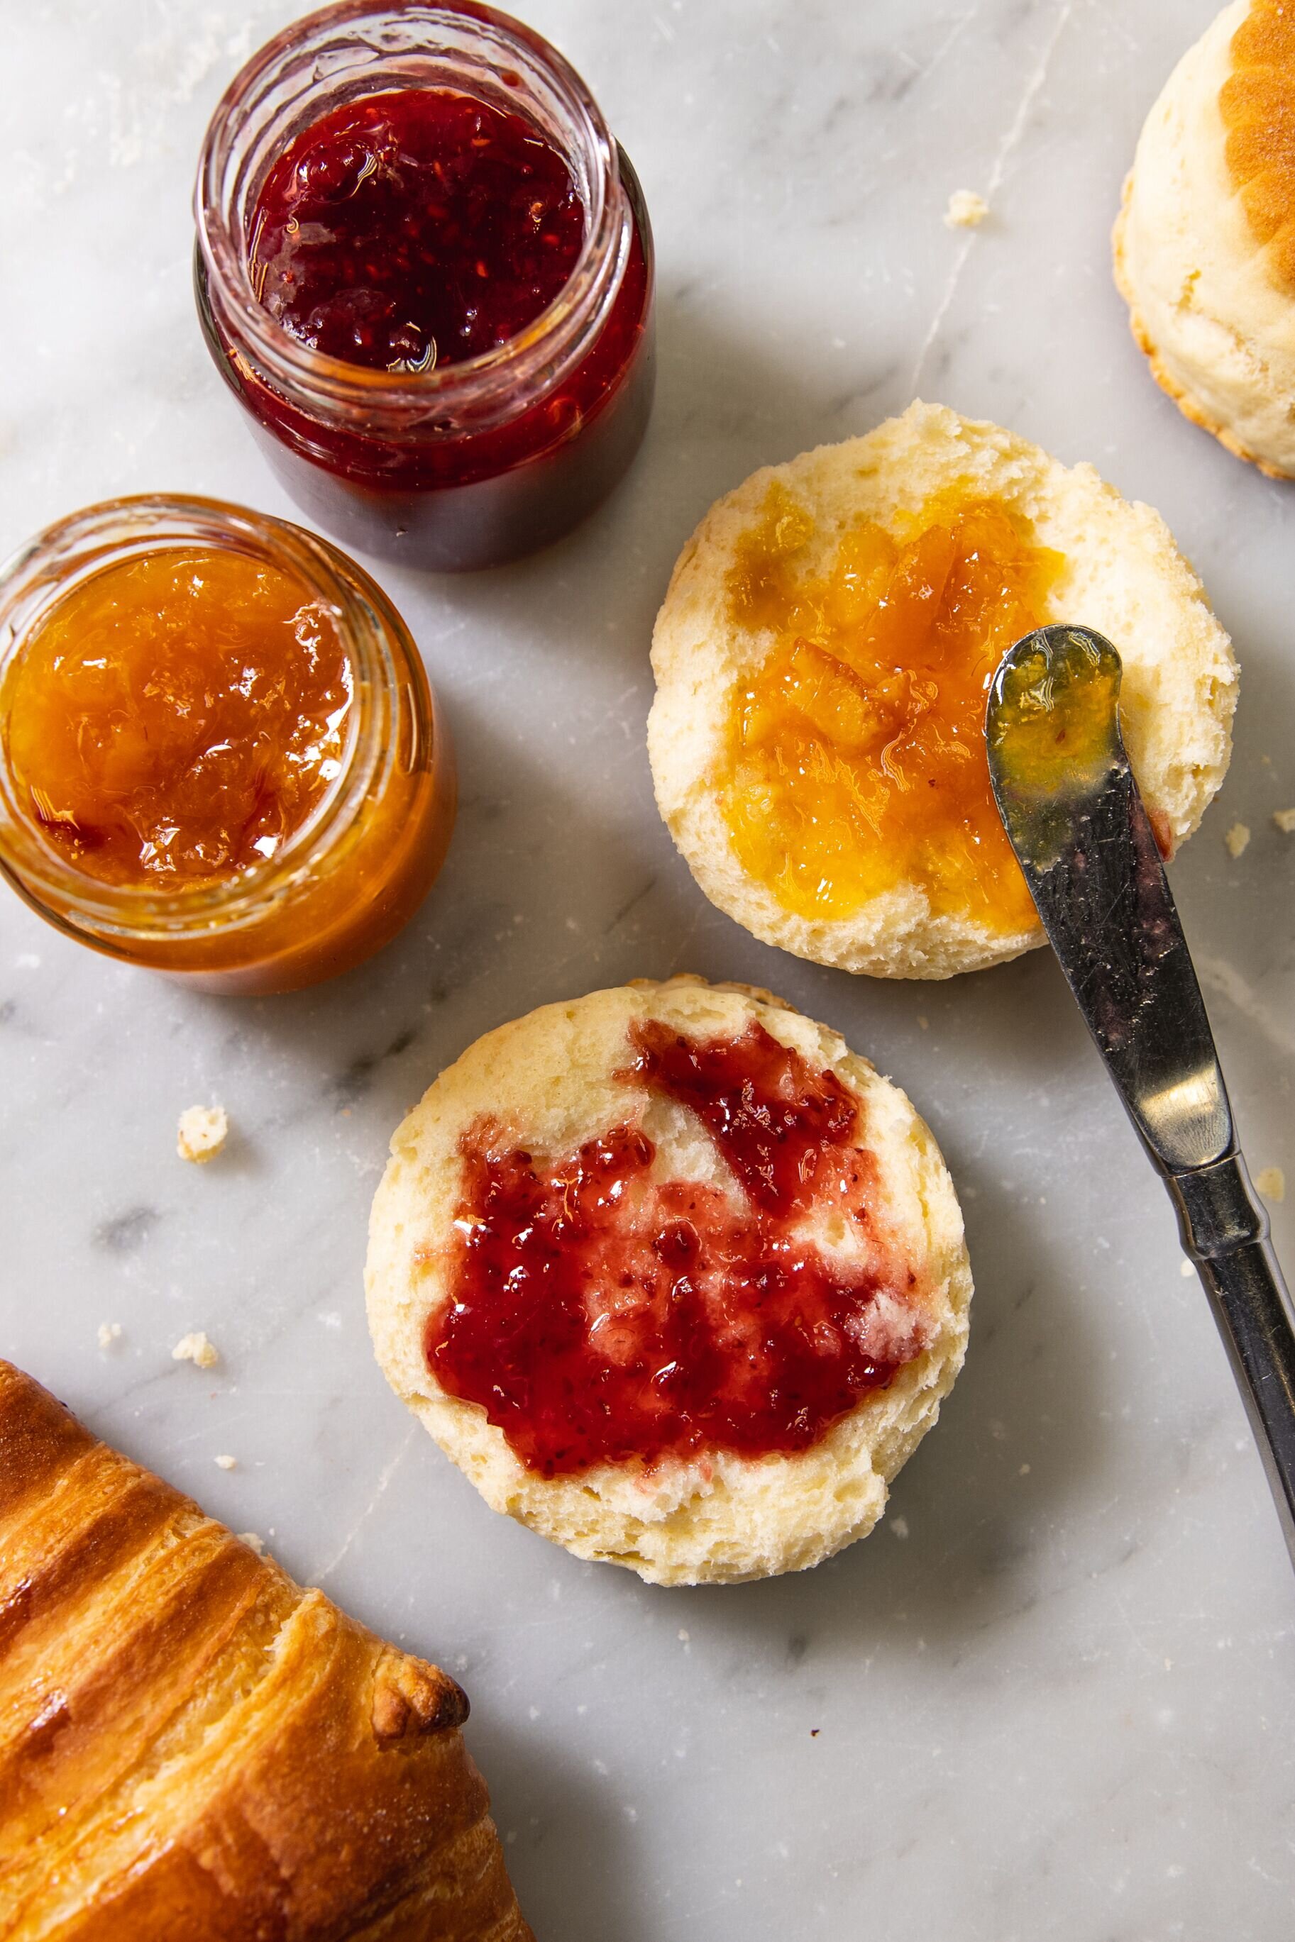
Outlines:
{"label": "scone half spread with orange marmalade, knife resting on it", "polygon": [[1109,635],[1161,849],[1231,750],[1237,664],[1157,513],[934,404],[755,472],[683,548],[652,637],[656,802],[767,944],[951,977],[1043,942],[994,806],[984,705],[1050,621]]}

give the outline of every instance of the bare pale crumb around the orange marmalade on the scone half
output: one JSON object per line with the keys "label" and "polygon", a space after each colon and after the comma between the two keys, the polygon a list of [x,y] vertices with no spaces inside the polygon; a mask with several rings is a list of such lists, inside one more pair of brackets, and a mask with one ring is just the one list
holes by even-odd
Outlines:
{"label": "bare pale crumb around the orange marmalade on the scone half", "polygon": [[808,577],[860,519],[893,526],[949,487],[1000,499],[1037,546],[1066,555],[1043,619],[1097,627],[1124,660],[1124,732],[1147,806],[1175,843],[1196,829],[1227,771],[1237,662],[1163,519],[1087,464],[1062,466],[998,425],[918,402],[862,439],[751,474],[711,507],[674,569],[652,635],[648,757],[658,808],[711,903],[767,944],[874,977],[951,977],[1043,942],[1037,924],[1002,934],[934,913],[918,884],[847,919],[802,917],[738,858],[720,802],[730,695],[763,666],[773,637],[734,623],[728,571],[775,480],[815,520]]}

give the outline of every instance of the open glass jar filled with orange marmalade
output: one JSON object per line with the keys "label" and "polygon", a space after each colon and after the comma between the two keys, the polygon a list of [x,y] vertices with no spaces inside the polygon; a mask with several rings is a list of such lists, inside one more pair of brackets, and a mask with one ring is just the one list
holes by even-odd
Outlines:
{"label": "open glass jar filled with orange marmalade", "polygon": [[66,936],[293,990],[400,930],[452,821],[419,653],[326,540],[116,499],[0,567],[0,868]]}

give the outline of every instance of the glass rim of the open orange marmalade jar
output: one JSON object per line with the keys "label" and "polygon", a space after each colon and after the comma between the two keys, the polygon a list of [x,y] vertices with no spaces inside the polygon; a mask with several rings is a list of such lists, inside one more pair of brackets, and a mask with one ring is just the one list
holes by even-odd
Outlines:
{"label": "glass rim of the open orange marmalade jar", "polygon": [[[396,759],[388,701],[400,674],[392,627],[402,623],[386,598],[326,540],[221,499],[140,493],[101,501],[47,526],[0,563],[0,693],[33,627],[74,586],[124,561],[186,548],[237,552],[287,571],[307,598],[330,610],[353,682],[342,769],[274,856],[223,882],[142,891],[74,868],[41,839],[19,806],[0,719],[0,870],[43,917],[72,934],[89,924],[120,942],[181,940],[256,924],[346,841]],[[76,913],[76,922],[64,922],[62,909]]]}

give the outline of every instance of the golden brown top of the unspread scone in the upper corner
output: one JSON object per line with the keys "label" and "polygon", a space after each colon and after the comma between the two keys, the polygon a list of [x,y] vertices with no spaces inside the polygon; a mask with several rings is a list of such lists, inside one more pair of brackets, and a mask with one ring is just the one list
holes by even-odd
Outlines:
{"label": "golden brown top of the unspread scone in the upper corner", "polygon": [[1227,173],[1272,274],[1295,289],[1295,8],[1250,0],[1219,93]]}

